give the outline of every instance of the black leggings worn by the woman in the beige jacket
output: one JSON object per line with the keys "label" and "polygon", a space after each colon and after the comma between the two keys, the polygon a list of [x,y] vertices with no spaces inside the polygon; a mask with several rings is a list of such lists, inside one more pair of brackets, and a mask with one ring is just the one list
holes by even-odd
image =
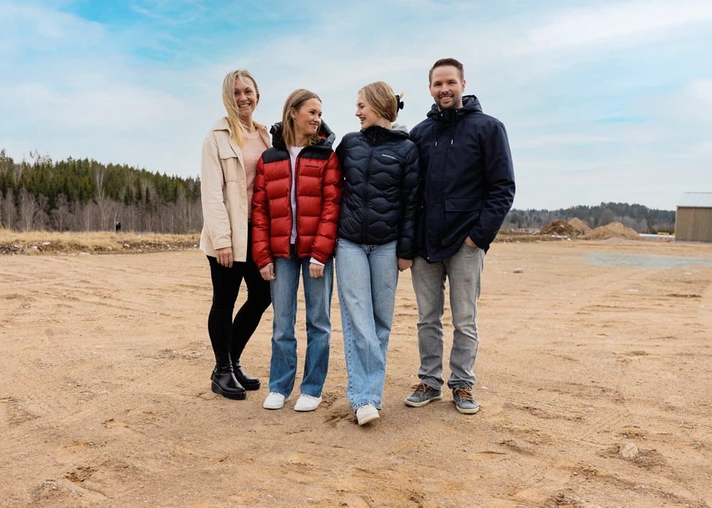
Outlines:
{"label": "black leggings worn by the woman in the beige jacket", "polygon": [[[210,277],[213,280],[213,305],[208,316],[208,334],[213,345],[216,364],[226,365],[239,361],[248,340],[257,329],[262,314],[272,302],[269,282],[262,278],[252,260],[251,238],[248,238],[247,260],[232,263],[226,268],[213,256],[210,262]],[[232,320],[237,295],[242,280],[247,284],[247,301]]]}

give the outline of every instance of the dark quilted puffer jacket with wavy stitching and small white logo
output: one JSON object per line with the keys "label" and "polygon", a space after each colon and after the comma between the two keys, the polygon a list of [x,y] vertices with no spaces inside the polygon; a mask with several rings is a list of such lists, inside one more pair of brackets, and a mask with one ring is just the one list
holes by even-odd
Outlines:
{"label": "dark quilted puffer jacket with wavy stitching and small white logo", "polygon": [[339,238],[364,245],[398,240],[397,255],[415,257],[420,181],[418,148],[404,127],[350,132],[336,148],[344,175]]}

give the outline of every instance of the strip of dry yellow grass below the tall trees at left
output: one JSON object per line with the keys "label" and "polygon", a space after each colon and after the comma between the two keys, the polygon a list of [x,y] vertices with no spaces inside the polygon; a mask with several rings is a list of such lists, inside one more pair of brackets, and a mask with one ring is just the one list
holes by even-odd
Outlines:
{"label": "strip of dry yellow grass below the tall trees at left", "polygon": [[158,233],[48,233],[0,229],[0,254],[143,253],[197,248],[200,235]]}

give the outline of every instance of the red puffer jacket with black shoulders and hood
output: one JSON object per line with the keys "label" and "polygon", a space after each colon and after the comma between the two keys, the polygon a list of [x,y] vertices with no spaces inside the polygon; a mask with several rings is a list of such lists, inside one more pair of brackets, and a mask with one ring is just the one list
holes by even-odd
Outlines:
{"label": "red puffer jacket with black shoulders and hood", "polygon": [[[262,269],[273,258],[289,257],[292,232],[292,171],[282,124],[271,129],[273,147],[257,163],[252,195],[252,257]],[[299,153],[296,164],[299,258],[326,263],[334,252],[342,176],[332,145],[335,134],[322,122],[317,142]]]}

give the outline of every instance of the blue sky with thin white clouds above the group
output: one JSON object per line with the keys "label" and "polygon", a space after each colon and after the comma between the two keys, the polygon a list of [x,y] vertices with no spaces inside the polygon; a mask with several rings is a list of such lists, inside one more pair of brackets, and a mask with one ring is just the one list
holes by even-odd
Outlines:
{"label": "blue sky with thin white clouds above the group", "polygon": [[452,57],[506,126],[515,208],[674,210],[712,191],[710,48],[708,0],[0,0],[0,149],[198,176],[230,70],[258,122],[308,88],[340,139],[376,80],[424,120]]}

